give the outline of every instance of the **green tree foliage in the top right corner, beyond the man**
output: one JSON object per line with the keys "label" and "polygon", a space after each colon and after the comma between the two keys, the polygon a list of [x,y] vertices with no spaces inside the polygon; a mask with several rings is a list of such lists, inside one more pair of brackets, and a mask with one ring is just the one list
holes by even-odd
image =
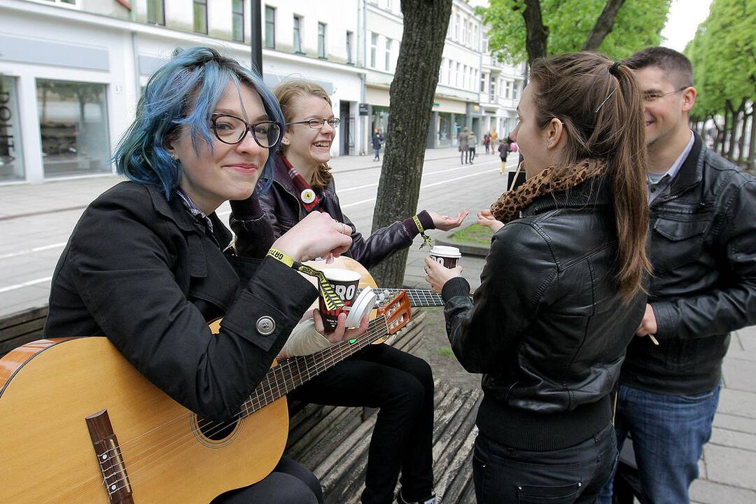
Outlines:
{"label": "green tree foliage in the top right corner, beyond the man", "polygon": [[756,0],[714,0],[685,48],[699,95],[694,119],[722,113],[729,101],[756,97]]}

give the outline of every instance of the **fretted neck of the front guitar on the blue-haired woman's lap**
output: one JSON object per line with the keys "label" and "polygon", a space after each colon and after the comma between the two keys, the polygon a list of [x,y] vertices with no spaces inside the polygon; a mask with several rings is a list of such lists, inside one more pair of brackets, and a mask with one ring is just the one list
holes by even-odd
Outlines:
{"label": "fretted neck of the front guitar on the blue-haired woman's lap", "polygon": [[244,418],[261,410],[388,333],[389,326],[386,323],[386,317],[380,315],[370,321],[367,332],[359,336],[354,343],[341,342],[311,355],[284,360],[268,371],[265,379],[260,382],[249,399],[244,401],[240,408],[240,416]]}

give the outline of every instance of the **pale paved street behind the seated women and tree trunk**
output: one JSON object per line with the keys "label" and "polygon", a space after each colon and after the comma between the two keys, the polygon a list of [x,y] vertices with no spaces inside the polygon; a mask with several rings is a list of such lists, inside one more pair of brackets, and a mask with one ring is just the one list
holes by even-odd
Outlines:
{"label": "pale paved street behind the seated women and tree trunk", "polygon": [[[516,158],[510,158],[510,165]],[[344,156],[331,162],[339,199],[358,230],[367,234],[373,220],[380,163],[371,156]],[[488,207],[504,188],[497,156],[478,156],[474,165],[460,165],[455,149],[426,152],[418,208],[456,215],[460,209]],[[122,179],[109,175],[43,184],[0,187],[0,316],[46,305],[51,275],[76,221],[88,203]],[[218,209],[228,219],[228,203]],[[469,217],[468,222],[474,221]],[[430,234],[437,233],[432,231]],[[411,249],[405,283],[425,286],[418,238]],[[474,286],[482,267],[480,258],[463,258]]]}

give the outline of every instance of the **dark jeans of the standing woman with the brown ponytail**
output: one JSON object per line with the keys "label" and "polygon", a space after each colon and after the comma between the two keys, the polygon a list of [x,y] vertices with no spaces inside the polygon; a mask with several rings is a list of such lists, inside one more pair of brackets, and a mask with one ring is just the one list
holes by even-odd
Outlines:
{"label": "dark jeans of the standing woman with the brown ponytail", "polygon": [[616,460],[612,424],[573,447],[542,452],[507,447],[478,434],[472,481],[478,504],[592,504]]}

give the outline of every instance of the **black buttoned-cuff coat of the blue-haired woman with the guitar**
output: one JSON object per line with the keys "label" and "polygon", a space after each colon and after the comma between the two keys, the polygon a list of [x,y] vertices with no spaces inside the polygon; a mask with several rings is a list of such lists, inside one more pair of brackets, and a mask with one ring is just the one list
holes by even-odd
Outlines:
{"label": "black buttoned-cuff coat of the blue-haired woman with the guitar", "polygon": [[[237,413],[318,292],[274,259],[224,254],[231,233],[210,217],[213,237],[178,197],[134,182],[103,193],[55,268],[45,337],[106,335],[190,410]],[[258,331],[261,317],[273,320],[271,334]]]}

